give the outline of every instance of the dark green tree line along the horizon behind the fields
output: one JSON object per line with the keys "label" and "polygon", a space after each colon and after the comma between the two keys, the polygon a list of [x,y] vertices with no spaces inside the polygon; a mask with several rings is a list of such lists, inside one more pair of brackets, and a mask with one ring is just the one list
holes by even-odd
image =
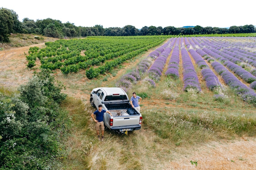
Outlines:
{"label": "dark green tree line along the horizon behind the fields", "polygon": [[18,14],[6,8],[0,8],[0,42],[8,42],[11,33],[33,33],[53,38],[86,37],[86,36],[136,36],[136,35],[194,35],[194,34],[226,34],[226,33],[255,33],[253,25],[219,27],[180,27],[174,26],[143,26],[141,29],[127,25],[123,28],[102,25],[93,27],[75,26],[74,23],[61,23],[51,18],[33,19],[24,18],[22,22]]}

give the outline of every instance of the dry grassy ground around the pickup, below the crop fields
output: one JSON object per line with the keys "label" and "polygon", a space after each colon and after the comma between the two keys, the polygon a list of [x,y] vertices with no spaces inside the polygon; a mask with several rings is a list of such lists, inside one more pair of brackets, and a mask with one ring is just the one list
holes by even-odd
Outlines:
{"label": "dry grassy ground around the pickup, below the crop fields", "polygon": [[[184,92],[180,79],[163,75],[155,88],[139,81],[128,91],[129,96],[134,91],[142,96],[142,128],[128,135],[106,129],[104,142],[98,141],[90,116],[95,111],[89,104],[92,88],[115,86],[124,74],[158,47],[130,59],[97,79],[87,79],[84,71],[68,75],[54,72],[54,77],[66,87],[63,92],[68,97],[61,107],[69,111],[72,126],[68,137],[62,141],[66,155],[55,162],[53,169],[191,169],[190,166],[196,168],[193,164],[197,162],[196,159],[187,162],[187,168],[174,168],[171,163],[193,158],[207,144],[255,138],[255,106],[245,103],[228,86],[225,86],[226,100],[216,101],[212,97],[214,92],[206,88],[204,81],[200,81],[202,92]],[[29,73],[36,69],[29,70]],[[164,67],[166,69],[167,66]],[[19,74],[27,74],[27,71],[20,70]],[[200,69],[196,68],[196,72],[200,75]],[[204,152],[207,153],[207,149]],[[219,155],[214,156],[213,161],[218,161]],[[244,162],[250,162],[242,156],[236,159],[241,163],[232,164],[232,161],[228,161],[230,165],[226,164],[226,167],[236,169]],[[201,160],[197,167],[206,169],[208,166]]]}

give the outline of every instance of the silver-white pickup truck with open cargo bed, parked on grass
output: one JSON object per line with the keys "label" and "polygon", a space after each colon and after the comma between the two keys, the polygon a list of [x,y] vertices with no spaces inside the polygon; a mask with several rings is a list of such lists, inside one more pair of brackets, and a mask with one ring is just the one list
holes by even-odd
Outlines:
{"label": "silver-white pickup truck with open cargo bed, parked on grass", "polygon": [[142,116],[136,108],[132,108],[126,92],[119,87],[98,87],[92,89],[90,104],[92,107],[109,111],[112,116],[104,113],[104,126],[118,133],[138,130],[141,128]]}

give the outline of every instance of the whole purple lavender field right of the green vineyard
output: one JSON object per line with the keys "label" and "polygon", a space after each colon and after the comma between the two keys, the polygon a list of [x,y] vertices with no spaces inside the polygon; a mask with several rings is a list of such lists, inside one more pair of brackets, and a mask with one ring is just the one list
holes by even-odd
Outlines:
{"label": "whole purple lavender field right of the green vineyard", "polygon": [[195,69],[200,70],[200,77],[214,92],[215,100],[224,100],[222,89],[229,87],[243,101],[256,104],[255,37],[171,38],[124,75],[116,86],[129,91],[142,81],[154,88],[161,78],[171,78],[182,82],[184,92],[200,93]]}

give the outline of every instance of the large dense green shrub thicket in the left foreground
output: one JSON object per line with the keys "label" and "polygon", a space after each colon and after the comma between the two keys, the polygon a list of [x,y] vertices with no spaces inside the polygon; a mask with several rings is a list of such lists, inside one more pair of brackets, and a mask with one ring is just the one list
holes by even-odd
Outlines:
{"label": "large dense green shrub thicket in the left foreground", "polygon": [[0,91],[0,169],[49,169],[63,157],[59,141],[70,120],[59,106],[66,97],[61,89],[43,70],[17,95]]}

